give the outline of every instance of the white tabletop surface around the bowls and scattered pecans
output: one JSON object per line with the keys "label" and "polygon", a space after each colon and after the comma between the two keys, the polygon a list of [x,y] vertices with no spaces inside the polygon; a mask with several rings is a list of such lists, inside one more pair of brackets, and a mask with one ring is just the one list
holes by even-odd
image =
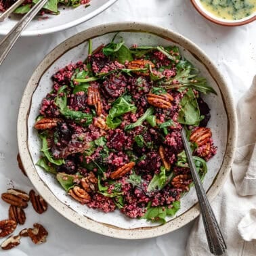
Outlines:
{"label": "white tabletop surface around the bowls and scattered pecans", "polygon": [[[51,35],[22,38],[0,67],[1,193],[13,184],[26,191],[31,188],[16,162],[16,118],[22,91],[37,64],[45,54],[71,35],[98,24],[125,20],[165,26],[194,41],[223,72],[236,102],[251,85],[256,71],[256,22],[237,28],[218,26],[202,18],[188,0],[119,0],[106,12],[76,28]],[[7,209],[7,204],[1,201],[0,219],[7,218]],[[51,207],[43,215],[37,215],[31,206],[25,211],[28,217],[25,226],[30,227],[34,222],[43,223],[49,231],[47,243],[35,246],[24,238],[19,247],[0,251],[0,255],[179,256],[184,255],[192,227],[190,223],[165,236],[147,240],[117,240],[77,227]],[[16,232],[22,228],[18,226]]]}

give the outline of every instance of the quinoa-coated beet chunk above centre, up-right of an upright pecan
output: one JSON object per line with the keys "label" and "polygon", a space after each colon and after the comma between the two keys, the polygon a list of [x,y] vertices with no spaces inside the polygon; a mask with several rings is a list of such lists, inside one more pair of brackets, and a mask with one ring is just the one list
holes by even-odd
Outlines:
{"label": "quinoa-coated beet chunk above centre, up-right of an upright pecan", "polygon": [[127,79],[123,74],[110,75],[103,83],[102,89],[110,98],[118,98],[125,92]]}

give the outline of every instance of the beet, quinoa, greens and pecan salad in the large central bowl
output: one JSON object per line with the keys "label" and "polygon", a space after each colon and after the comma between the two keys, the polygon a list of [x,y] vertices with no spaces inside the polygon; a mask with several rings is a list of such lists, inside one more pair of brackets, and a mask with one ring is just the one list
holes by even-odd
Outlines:
{"label": "beet, quinoa, greens and pecan salad in the large central bowl", "polygon": [[186,128],[203,179],[216,153],[200,97],[215,93],[176,46],[127,47],[116,37],[52,77],[35,129],[43,155],[74,200],[105,213],[165,223],[192,186]]}

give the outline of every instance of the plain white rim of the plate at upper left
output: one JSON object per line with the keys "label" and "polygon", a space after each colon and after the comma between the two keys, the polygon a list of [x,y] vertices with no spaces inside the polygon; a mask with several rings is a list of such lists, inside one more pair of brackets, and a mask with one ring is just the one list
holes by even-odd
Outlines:
{"label": "plain white rim of the plate at upper left", "polygon": [[[31,37],[31,36],[38,36],[38,35],[47,35],[51,33],[55,33],[58,31],[66,30],[68,28],[72,28],[73,26],[77,26],[83,22],[86,22],[87,20],[90,20],[91,18],[101,14],[104,12],[108,7],[113,5],[117,0],[108,0],[104,5],[98,7],[98,9],[95,9],[93,12],[90,12],[89,14],[83,16],[82,18],[79,18],[77,20],[73,20],[72,22],[67,22],[65,24],[55,26],[53,28],[42,28],[39,30],[24,30],[21,34],[21,37]],[[8,30],[3,30],[0,28],[0,35],[7,35],[9,33]]]}

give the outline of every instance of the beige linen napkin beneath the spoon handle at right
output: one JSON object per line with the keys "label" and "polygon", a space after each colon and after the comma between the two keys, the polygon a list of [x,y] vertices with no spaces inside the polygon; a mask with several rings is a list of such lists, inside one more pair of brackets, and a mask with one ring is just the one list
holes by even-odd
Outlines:
{"label": "beige linen napkin beneath the spoon handle at right", "polygon": [[[256,76],[238,102],[238,144],[232,171],[211,203],[228,250],[225,255],[256,255]],[[186,255],[211,255],[200,216],[191,230]]]}

